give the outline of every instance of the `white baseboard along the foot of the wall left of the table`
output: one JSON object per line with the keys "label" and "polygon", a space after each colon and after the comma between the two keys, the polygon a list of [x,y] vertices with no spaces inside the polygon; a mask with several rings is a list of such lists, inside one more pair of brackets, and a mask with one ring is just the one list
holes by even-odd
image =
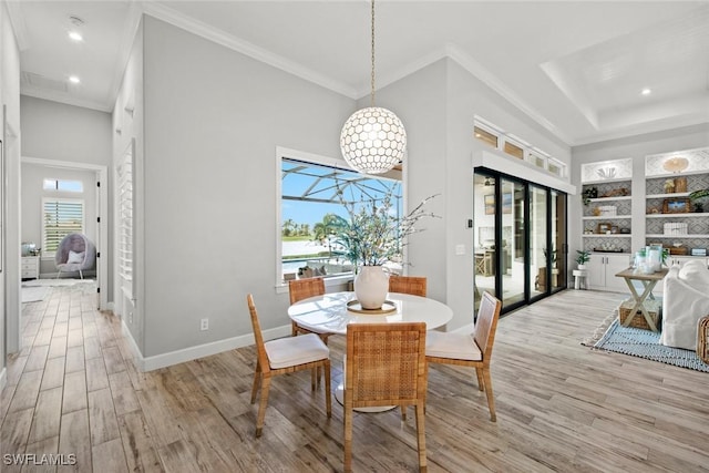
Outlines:
{"label": "white baseboard along the foot of the wall left of the table", "polygon": [[[232,337],[224,340],[217,340],[209,343],[197,345],[189,348],[183,348],[181,350],[171,351],[163,354],[156,354],[153,357],[143,357],[138,349],[133,335],[122,322],[122,331],[124,337],[129,340],[131,349],[133,350],[135,367],[140,371],[153,371],[160,368],[172,367],[173,364],[184,363],[185,361],[196,360],[198,358],[210,357],[212,354],[222,353],[224,351],[235,350],[242,347],[248,347],[254,345],[254,336],[251,333],[243,335],[239,337]],[[291,326],[276,327],[269,330],[264,330],[264,339],[271,340],[275,338],[290,336]]]}

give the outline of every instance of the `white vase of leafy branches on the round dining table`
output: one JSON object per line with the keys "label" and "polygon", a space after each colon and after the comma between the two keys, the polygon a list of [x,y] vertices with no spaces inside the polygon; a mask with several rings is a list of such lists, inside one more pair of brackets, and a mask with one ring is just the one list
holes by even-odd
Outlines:
{"label": "white vase of leafy branches on the round dining table", "polygon": [[403,217],[393,212],[393,196],[389,192],[380,200],[346,200],[339,189],[340,202],[349,213],[349,222],[341,219],[335,243],[356,267],[354,294],[363,309],[380,309],[389,290],[389,278],[382,265],[401,260],[404,239],[421,232],[415,225],[423,217],[435,217],[424,209],[435,195],[424,198]]}

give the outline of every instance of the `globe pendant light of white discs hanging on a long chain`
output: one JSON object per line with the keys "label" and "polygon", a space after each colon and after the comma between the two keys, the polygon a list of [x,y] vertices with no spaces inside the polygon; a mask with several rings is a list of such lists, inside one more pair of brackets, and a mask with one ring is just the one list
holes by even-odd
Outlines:
{"label": "globe pendant light of white discs hanging on a long chain", "polygon": [[374,0],[372,0],[372,75],[370,106],[354,112],[342,126],[340,148],[347,164],[366,174],[381,174],[403,161],[407,131],[390,110],[374,106]]}

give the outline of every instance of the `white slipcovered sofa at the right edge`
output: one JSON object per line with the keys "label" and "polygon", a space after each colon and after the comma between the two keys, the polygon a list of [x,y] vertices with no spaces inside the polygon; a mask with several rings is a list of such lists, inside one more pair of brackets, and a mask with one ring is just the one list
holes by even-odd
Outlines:
{"label": "white slipcovered sofa at the right edge", "polygon": [[660,343],[697,349],[699,319],[709,316],[709,269],[703,259],[672,266],[664,280]]}

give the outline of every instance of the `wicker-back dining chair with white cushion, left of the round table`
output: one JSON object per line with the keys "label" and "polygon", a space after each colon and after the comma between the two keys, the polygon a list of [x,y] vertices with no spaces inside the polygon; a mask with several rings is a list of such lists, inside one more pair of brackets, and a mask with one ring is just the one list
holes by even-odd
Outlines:
{"label": "wicker-back dining chair with white cushion, left of the round table", "polygon": [[[261,399],[256,420],[256,436],[261,436],[266,407],[268,404],[268,390],[270,379],[278,374],[291,373],[301,370],[322,368],[325,371],[325,401],[328,418],[332,417],[332,399],[330,397],[330,350],[315,333],[302,337],[288,337],[264,341],[261,326],[258,321],[258,312],[254,304],[254,297],[246,296],[248,310],[251,315],[254,338],[256,339],[256,370],[254,372],[254,387],[251,388],[251,404],[256,402],[256,392],[261,389]],[[315,391],[315,380],[311,389]]]}

